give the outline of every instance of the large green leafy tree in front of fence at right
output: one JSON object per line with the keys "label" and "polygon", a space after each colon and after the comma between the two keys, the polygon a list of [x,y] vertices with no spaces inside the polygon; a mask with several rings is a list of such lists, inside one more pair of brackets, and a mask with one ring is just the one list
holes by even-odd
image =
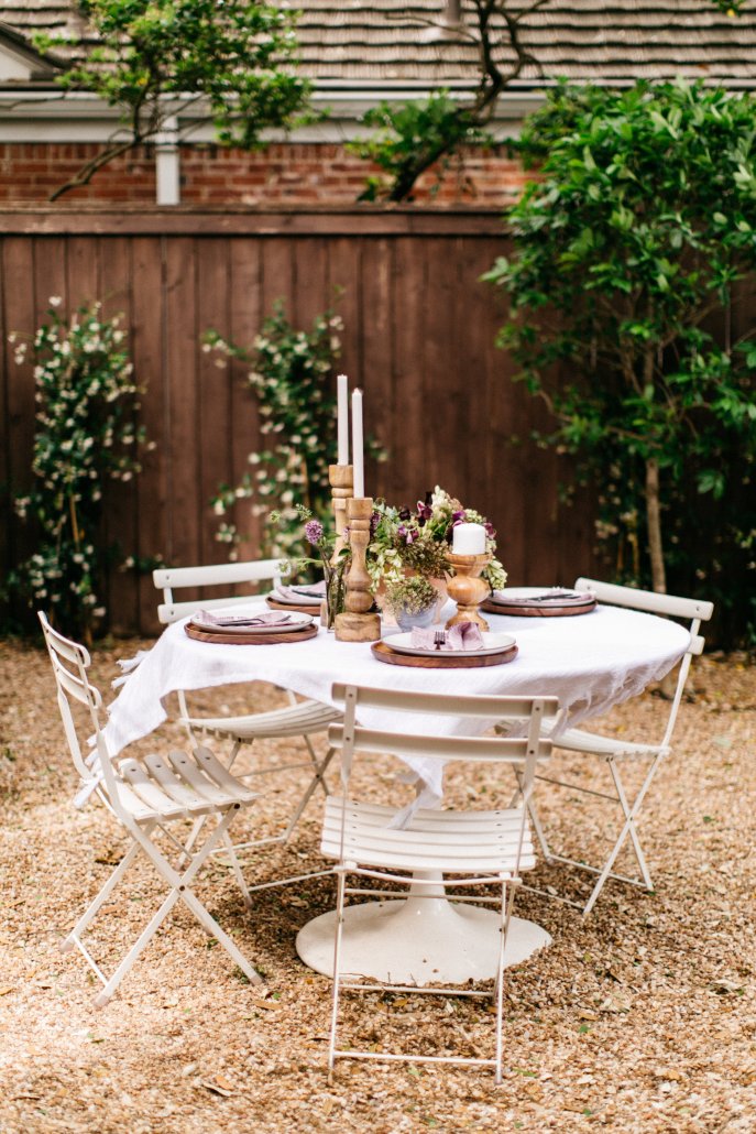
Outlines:
{"label": "large green leafy tree in front of fence at right", "polygon": [[639,541],[630,573],[657,591],[670,552],[691,559],[707,497],[738,569],[756,567],[756,344],[732,333],[756,268],[755,124],[750,95],[683,82],[560,88],[523,136],[540,180],[486,277],[511,299],[501,345],[554,415],[546,440],[579,456],[605,534]]}

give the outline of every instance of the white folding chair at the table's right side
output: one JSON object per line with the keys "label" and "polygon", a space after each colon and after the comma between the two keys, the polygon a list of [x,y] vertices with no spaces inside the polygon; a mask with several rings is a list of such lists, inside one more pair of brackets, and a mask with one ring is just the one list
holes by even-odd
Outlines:
{"label": "white folding chair at the table's right side", "polygon": [[[648,865],[638,838],[636,820],[648,788],[651,787],[652,780],[656,775],[659,765],[671,752],[672,733],[674,730],[678,710],[682,700],[688,670],[690,669],[690,662],[694,655],[699,654],[704,649],[704,638],[698,634],[698,628],[702,621],[707,621],[712,617],[714,604],[711,602],[699,601],[698,599],[685,599],[672,594],[656,594],[653,591],[640,591],[630,586],[617,586],[612,583],[601,583],[593,578],[578,578],[575,583],[575,590],[589,591],[592,594],[595,594],[598,602],[603,602],[609,606],[628,607],[632,610],[640,610],[648,613],[665,615],[671,618],[682,619],[688,625],[690,632],[690,645],[679,663],[677,686],[672,697],[666,727],[661,739],[656,742],[632,742],[626,741],[623,737],[601,736],[596,733],[584,731],[579,728],[570,728],[554,742],[554,747],[557,750],[563,748],[567,752],[585,753],[588,756],[603,760],[611,775],[613,792],[600,792],[594,788],[586,788],[581,784],[576,784],[574,781],[568,782],[562,779],[555,779],[551,776],[536,776],[536,779],[538,780],[543,780],[558,787],[569,788],[570,792],[583,793],[601,799],[609,799],[613,804],[619,804],[621,812],[620,832],[606,861],[603,865],[596,866],[584,861],[554,853],[536,810],[537,793],[536,796],[532,797],[528,803],[533,830],[538,839],[541,850],[546,863],[563,863],[597,875],[596,882],[585,905],[583,905],[581,902],[574,902],[570,898],[560,898],[560,900],[566,902],[568,905],[576,906],[578,909],[581,908],[583,915],[587,916],[587,914],[589,914],[593,909],[604,883],[610,878],[620,882],[626,882],[630,886],[645,887],[647,890],[653,890],[654,888],[654,883],[648,872]],[[640,763],[644,768],[647,765],[645,779],[632,799],[630,799],[629,790],[620,776],[620,764],[623,762],[631,764]],[[619,874],[613,871],[617,857],[628,839],[630,840],[630,846],[640,871],[639,878],[629,878],[626,874]],[[547,897],[558,897],[558,895],[555,895],[552,890],[542,890],[538,892],[545,894]]]}

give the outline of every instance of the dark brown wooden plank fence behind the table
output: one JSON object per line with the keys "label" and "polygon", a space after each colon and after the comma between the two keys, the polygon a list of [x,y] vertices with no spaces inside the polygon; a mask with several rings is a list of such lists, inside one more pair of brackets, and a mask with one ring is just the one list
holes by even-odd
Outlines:
{"label": "dark brown wooden plank fence behind the table", "polygon": [[[489,211],[0,212],[2,568],[29,550],[11,494],[29,484],[34,433],[32,367],[16,365],[8,333],[31,335],[50,296],[125,313],[156,447],[111,493],[108,534],[178,565],[223,558],[209,501],[260,447],[243,372],[218,369],[203,332],[252,344],[278,298],[309,325],[340,288],[341,366],[391,454],[368,467],[367,491],[414,502],[440,483],[496,525],[511,583],[571,583],[592,562],[591,510],[559,503],[557,458],[529,441],[540,407],[494,346],[504,311],[479,276],[506,251]],[[248,506],[238,518],[254,553]],[[148,577],[114,573],[108,602],[114,628],[154,631]]]}

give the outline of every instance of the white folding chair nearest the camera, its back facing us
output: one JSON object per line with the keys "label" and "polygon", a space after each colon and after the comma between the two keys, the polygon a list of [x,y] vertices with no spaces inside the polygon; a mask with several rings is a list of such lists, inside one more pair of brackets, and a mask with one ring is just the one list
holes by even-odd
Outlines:
{"label": "white folding chair nearest the camera, its back facing us", "polygon": [[[343,796],[329,796],[325,802],[322,850],[338,861],[338,903],[333,962],[333,1004],[329,1042],[329,1075],[337,1059],[406,1060],[409,1063],[444,1063],[493,1067],[496,1083],[501,1082],[502,1064],[502,1004],[504,948],[509,931],[516,888],[520,873],[535,865],[527,821],[527,806],[499,811],[441,811],[419,809],[406,829],[389,824],[394,811],[389,806],[363,803],[349,797],[350,773],[355,752],[393,753],[398,756],[427,758],[443,761],[511,764],[520,770],[523,798],[530,796],[536,762],[547,758],[551,742],[542,736],[542,723],[553,722],[559,703],[555,697],[489,697],[443,696],[439,694],[380,691],[354,685],[334,685],[333,700],[343,702],[342,725],[332,725],[329,739],[341,752],[341,780]],[[357,723],[364,709],[391,712],[391,730],[364,728]],[[453,716],[470,721],[507,719],[517,720],[524,736],[438,736],[404,731],[408,713]],[[474,725],[473,725],[474,728]],[[413,877],[413,871],[419,872]],[[493,996],[495,1000],[495,1053],[491,1059],[455,1056],[419,1056],[399,1052],[376,1052],[349,1047],[337,1047],[339,1026],[339,998],[341,989],[362,991],[411,991],[406,985],[389,983],[365,984],[345,980],[341,972],[341,948],[345,899],[365,895],[360,886],[347,886],[347,875],[369,878],[385,885],[411,887],[413,894],[426,888],[422,897],[438,896],[441,875],[453,875],[455,888],[479,890],[494,885],[495,898],[476,894],[455,894],[455,902],[495,904],[500,913],[500,943],[493,990],[490,993],[472,992],[465,988],[423,988],[424,992],[443,996]],[[389,891],[391,894],[392,891]],[[377,896],[387,896],[379,890]]]}

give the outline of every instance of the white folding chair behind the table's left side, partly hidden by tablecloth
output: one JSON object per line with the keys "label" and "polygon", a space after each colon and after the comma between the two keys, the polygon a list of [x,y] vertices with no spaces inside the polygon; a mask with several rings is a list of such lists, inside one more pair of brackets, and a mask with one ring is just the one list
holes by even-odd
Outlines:
{"label": "white folding chair behind the table's left side, partly hidden by tablecloth", "polygon": [[[173,591],[187,587],[223,587],[227,592],[238,584],[280,581],[280,562],[278,559],[258,559],[247,562],[215,564],[206,567],[161,567],[153,572],[154,585],[163,592],[163,601],[158,607],[158,618],[162,624],[175,623],[179,618],[185,618],[193,613],[199,606],[204,609],[229,607],[239,603],[249,604],[254,601],[254,595],[231,594],[226,598],[202,599],[202,601],[176,602]],[[262,602],[262,599],[258,600]],[[317,701],[297,701],[295,695],[288,692],[289,704],[283,709],[273,709],[269,712],[250,713],[240,717],[198,717],[189,711],[186,694],[179,691],[179,723],[187,729],[193,743],[198,743],[198,737],[211,734],[216,737],[229,739],[231,751],[229,753],[228,767],[233,764],[239,748],[243,745],[253,745],[255,741],[262,739],[286,739],[288,737],[299,737],[306,747],[307,759],[295,763],[277,763],[257,768],[249,772],[239,772],[241,778],[250,776],[273,776],[282,772],[290,772],[301,768],[308,770],[309,778],[305,790],[295,801],[295,807],[283,831],[267,838],[248,843],[238,843],[237,849],[248,847],[260,847],[272,843],[287,843],[299,822],[301,814],[309,803],[313,793],[320,787],[324,795],[328,795],[325,784],[325,770],[328,769],[333,750],[330,748],[322,760],[317,759],[311,737],[317,733],[324,733],[330,723],[340,719],[340,713],[330,705],[321,704]],[[287,879],[296,881],[297,879]],[[263,883],[280,885],[280,883]],[[260,889],[262,887],[252,887]]]}

